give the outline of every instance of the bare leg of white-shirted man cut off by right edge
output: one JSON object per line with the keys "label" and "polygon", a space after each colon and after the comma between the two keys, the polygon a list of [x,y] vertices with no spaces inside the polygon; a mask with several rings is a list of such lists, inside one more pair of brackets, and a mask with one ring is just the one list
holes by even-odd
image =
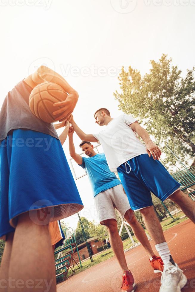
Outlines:
{"label": "bare leg of white-shirted man cut off by right edge", "polygon": [[195,223],[195,202],[192,201],[182,191],[178,190],[174,192],[170,197],[170,200],[174,201],[185,213],[188,218]]}

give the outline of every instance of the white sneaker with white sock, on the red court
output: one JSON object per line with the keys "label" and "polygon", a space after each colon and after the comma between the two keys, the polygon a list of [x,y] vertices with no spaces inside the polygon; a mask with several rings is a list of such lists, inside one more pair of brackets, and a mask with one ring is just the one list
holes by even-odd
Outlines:
{"label": "white sneaker with white sock, on the red court", "polygon": [[160,292],[180,292],[187,283],[187,278],[179,267],[168,262],[164,265],[160,282]]}

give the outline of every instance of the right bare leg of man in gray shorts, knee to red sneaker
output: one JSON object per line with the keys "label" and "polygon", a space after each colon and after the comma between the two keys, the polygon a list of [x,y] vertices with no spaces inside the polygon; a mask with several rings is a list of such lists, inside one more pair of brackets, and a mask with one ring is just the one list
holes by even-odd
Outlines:
{"label": "right bare leg of man in gray shorts, knee to red sneaker", "polygon": [[151,248],[151,245],[148,241],[148,237],[146,236],[146,233],[141,226],[141,224],[137,221],[133,210],[129,209],[124,216],[125,220],[129,223],[131,226],[131,229],[133,230],[133,233],[135,237],[140,241],[140,243],[145,248],[147,254],[149,257],[152,257],[154,255],[154,251]]}

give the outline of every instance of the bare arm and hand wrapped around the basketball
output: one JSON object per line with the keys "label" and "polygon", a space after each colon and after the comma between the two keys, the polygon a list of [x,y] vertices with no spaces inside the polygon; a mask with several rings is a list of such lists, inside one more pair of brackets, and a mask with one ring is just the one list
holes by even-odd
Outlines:
{"label": "bare arm and hand wrapped around the basketball", "polygon": [[61,109],[56,112],[54,111],[53,114],[58,115],[61,113],[61,116],[57,119],[61,122],[73,112],[78,101],[78,92],[60,74],[46,66],[40,66],[33,74],[25,78],[24,81],[33,88],[43,82],[54,82],[60,85],[69,95],[66,100],[54,104],[54,107],[60,106]]}

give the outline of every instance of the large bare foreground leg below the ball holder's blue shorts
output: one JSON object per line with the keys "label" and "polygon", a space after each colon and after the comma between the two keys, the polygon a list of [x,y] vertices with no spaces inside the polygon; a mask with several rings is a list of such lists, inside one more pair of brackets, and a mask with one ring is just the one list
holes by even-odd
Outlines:
{"label": "large bare foreground leg below the ball holder's blue shorts", "polygon": [[[37,225],[28,213],[19,216],[14,234],[8,292],[56,291],[55,268],[48,225]],[[20,281],[20,282],[18,282]],[[13,289],[14,287],[14,289]]]}

